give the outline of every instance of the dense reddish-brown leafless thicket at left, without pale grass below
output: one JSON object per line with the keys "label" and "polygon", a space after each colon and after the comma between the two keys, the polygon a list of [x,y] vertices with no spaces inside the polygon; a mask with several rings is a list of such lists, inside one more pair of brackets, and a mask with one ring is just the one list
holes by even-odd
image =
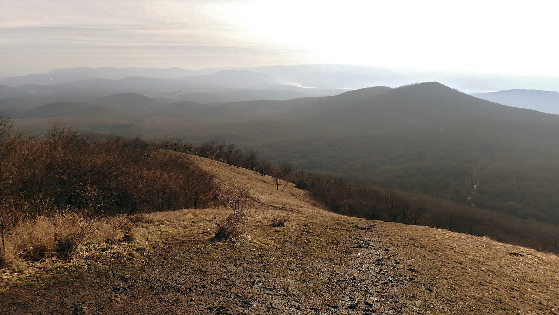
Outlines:
{"label": "dense reddish-brown leafless thicket at left, without pale grass below", "polygon": [[10,197],[17,213],[30,218],[56,208],[97,214],[198,208],[217,192],[213,177],[184,156],[156,153],[138,138],[92,142],[56,125],[48,137],[0,137],[0,174],[0,200]]}

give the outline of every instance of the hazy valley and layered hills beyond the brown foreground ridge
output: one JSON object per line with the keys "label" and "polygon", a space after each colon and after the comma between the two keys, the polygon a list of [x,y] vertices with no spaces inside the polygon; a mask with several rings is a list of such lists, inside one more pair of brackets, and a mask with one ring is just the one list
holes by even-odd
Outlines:
{"label": "hazy valley and layered hills beyond the brown foreground ridge", "polygon": [[[557,92],[468,96],[437,82],[349,91],[280,83],[304,82],[310,68],[292,68],[59,69],[3,79],[26,83],[0,87],[0,111],[38,133],[56,119],[99,134],[234,141],[272,163],[559,223],[559,116],[543,113],[557,112]],[[108,78],[85,78],[98,72]],[[164,78],[119,78],[130,74]],[[49,76],[61,83],[31,84]]]}

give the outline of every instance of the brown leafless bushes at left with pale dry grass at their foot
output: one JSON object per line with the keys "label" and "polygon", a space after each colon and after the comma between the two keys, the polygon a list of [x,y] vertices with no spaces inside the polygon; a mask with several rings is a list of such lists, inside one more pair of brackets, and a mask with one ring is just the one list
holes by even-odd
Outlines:
{"label": "brown leafless bushes at left with pale dry grass at their foot", "polygon": [[132,241],[139,219],[131,214],[206,207],[217,196],[210,174],[139,138],[91,141],[56,124],[48,136],[22,136],[5,117],[0,132],[3,266],[92,240]]}

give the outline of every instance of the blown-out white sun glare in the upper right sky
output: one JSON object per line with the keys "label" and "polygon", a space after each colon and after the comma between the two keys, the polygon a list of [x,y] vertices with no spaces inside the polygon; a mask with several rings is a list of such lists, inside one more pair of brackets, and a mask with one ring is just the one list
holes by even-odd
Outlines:
{"label": "blown-out white sun glare in the upper right sky", "polygon": [[[211,5],[244,39],[306,49],[322,63],[507,72],[559,71],[556,2],[283,1]],[[210,11],[208,11],[210,12]],[[497,15],[496,15],[497,13]],[[537,13],[537,15],[536,15]],[[491,31],[487,31],[491,30]],[[538,58],[530,58],[538,49]],[[520,62],[519,62],[520,61]],[[550,68],[551,67],[551,68]]]}

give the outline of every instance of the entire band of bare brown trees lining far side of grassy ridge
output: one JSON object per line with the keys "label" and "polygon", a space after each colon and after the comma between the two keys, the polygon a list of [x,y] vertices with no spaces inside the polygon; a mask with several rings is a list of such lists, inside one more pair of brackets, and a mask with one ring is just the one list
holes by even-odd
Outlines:
{"label": "entire band of bare brown trees lining far side of grassy ridge", "polygon": [[[160,141],[158,146],[174,141]],[[385,189],[348,180],[339,176],[310,173],[296,170],[289,163],[272,166],[257,159],[255,151],[244,152],[233,144],[212,141],[199,146],[182,142],[174,147],[188,147],[190,154],[207,157],[228,163],[224,157],[226,149],[235,149],[237,167],[241,166],[260,173],[269,174],[274,180],[276,190],[280,185],[295,183],[297,188],[307,189],[314,198],[323,202],[331,211],[349,216],[383,221],[400,222],[409,225],[427,225],[444,228],[454,232],[471,235],[489,236],[501,242],[532,247],[533,249],[559,251],[559,227],[551,223],[525,219],[511,214],[491,211],[479,207],[466,206],[453,202],[451,197],[437,198],[424,194]],[[188,153],[185,151],[185,153]],[[210,154],[209,152],[213,152]],[[218,157],[217,159],[215,157]],[[228,163],[229,164],[229,163]],[[287,180],[286,180],[287,179]],[[283,187],[285,188],[285,187]],[[282,191],[283,191],[282,188]]]}

